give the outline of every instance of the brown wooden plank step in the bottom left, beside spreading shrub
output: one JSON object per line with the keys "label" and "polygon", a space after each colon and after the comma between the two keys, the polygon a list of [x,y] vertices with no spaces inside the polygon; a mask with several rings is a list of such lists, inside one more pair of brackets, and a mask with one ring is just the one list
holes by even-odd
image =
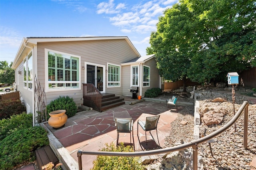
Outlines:
{"label": "brown wooden plank step in the bottom left, beside spreading shrub", "polygon": [[46,165],[50,162],[52,162],[54,166],[59,163],[58,158],[55,156],[49,145],[39,148],[35,152],[36,163],[40,170],[44,170]]}

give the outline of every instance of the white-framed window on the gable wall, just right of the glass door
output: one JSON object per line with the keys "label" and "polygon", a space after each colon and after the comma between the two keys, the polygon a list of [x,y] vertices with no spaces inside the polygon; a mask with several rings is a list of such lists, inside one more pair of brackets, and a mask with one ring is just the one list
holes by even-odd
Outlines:
{"label": "white-framed window on the gable wall, just right of the glass door", "polygon": [[108,64],[108,87],[120,87],[120,65]]}

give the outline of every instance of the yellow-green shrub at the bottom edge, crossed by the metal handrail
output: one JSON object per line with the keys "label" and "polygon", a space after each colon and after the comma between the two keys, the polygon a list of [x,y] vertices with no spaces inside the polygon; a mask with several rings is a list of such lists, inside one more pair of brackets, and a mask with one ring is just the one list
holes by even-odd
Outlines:
{"label": "yellow-green shrub at the bottom edge, crossed by the metal handrail", "polygon": [[[119,146],[116,146],[114,142],[105,145],[106,148],[102,148],[101,151],[134,152],[131,146],[125,147],[122,142]],[[93,161],[92,170],[143,170],[144,166],[138,162],[139,159],[139,157],[97,156],[97,159]]]}

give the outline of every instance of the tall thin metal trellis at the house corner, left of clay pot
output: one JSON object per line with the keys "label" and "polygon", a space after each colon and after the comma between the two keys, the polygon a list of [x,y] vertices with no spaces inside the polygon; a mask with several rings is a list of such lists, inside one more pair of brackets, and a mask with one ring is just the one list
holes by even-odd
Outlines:
{"label": "tall thin metal trellis at the house corner, left of clay pot", "polygon": [[40,82],[38,83],[36,75],[34,77],[34,112],[33,126],[41,126],[46,129],[46,94],[42,90]]}

